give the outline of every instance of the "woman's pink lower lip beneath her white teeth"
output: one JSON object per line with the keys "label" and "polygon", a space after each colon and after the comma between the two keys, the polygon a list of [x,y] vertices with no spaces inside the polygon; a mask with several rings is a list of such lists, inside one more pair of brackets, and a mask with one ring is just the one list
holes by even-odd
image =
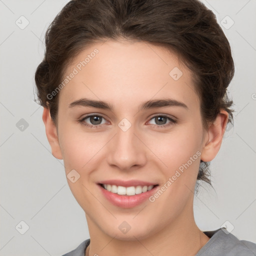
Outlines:
{"label": "woman's pink lower lip beneath her white teeth", "polygon": [[151,190],[134,195],[120,195],[117,193],[112,193],[106,189],[104,189],[101,185],[99,185],[100,190],[103,195],[108,199],[113,205],[122,208],[132,208],[140,203],[144,202],[150,195],[152,195],[157,189],[158,185],[153,187]]}

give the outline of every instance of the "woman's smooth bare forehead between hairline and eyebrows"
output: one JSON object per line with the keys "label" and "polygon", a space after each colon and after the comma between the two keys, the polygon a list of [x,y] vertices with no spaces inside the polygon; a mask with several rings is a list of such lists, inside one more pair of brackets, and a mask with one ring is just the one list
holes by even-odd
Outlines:
{"label": "woman's smooth bare forehead between hairline and eyebrows", "polygon": [[191,71],[175,53],[148,42],[94,43],[73,59],[63,80],[66,76],[68,81],[60,91],[66,103],[82,96],[111,99],[113,104],[139,104],[162,96],[185,101],[187,105],[199,103]]}

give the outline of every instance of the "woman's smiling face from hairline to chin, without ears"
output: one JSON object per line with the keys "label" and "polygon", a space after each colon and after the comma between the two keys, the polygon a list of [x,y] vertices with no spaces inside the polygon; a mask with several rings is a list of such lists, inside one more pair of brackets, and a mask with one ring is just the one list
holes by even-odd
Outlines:
{"label": "woman's smiling face from hairline to chin, without ears", "polygon": [[178,228],[192,216],[209,138],[190,71],[163,47],[106,41],[80,52],[66,75],[54,155],[63,158],[66,175],[72,173],[67,182],[89,229],[132,240]]}

